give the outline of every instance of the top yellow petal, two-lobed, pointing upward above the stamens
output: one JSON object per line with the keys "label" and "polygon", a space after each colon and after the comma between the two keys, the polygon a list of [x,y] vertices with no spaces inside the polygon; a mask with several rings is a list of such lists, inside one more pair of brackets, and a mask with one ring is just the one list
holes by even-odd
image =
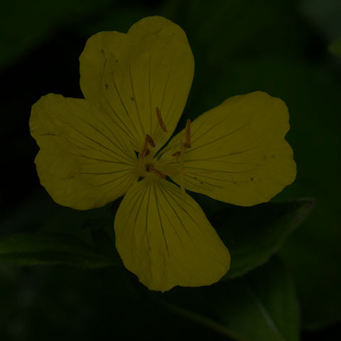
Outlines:
{"label": "top yellow petal, two-lobed, pointing upward above the stamens", "polygon": [[[194,60],[183,30],[161,16],[144,18],[128,33],[100,32],[80,55],[85,99],[101,102],[136,151],[149,134],[155,151],[168,141],[185,107]],[[167,132],[156,116],[161,110]]]}

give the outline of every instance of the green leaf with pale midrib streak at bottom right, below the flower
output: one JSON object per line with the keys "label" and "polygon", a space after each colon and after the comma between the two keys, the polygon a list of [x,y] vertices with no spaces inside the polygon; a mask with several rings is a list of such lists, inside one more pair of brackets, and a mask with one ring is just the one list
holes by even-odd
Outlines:
{"label": "green leaf with pale midrib streak at bottom right, below the flower", "polygon": [[288,271],[279,259],[208,290],[217,320],[245,341],[296,341],[299,312]]}

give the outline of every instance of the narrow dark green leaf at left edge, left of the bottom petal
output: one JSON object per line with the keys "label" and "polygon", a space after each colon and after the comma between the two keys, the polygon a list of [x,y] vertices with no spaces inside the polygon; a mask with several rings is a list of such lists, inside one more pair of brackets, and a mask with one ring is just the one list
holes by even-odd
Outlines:
{"label": "narrow dark green leaf at left edge, left of the bottom petal", "polygon": [[114,259],[71,234],[13,234],[0,239],[0,261],[16,265],[70,265],[101,268]]}

